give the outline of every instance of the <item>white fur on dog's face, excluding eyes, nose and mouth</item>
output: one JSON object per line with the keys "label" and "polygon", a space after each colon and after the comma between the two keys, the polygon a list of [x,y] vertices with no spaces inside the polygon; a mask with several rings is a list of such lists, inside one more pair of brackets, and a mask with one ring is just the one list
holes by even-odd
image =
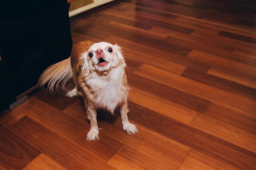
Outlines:
{"label": "white fur on dog's face, excluding eyes, nose and mouth", "polygon": [[[108,48],[112,49],[112,52],[108,51]],[[106,63],[104,64],[99,64],[99,57],[96,57],[96,50],[97,49],[102,49],[103,50],[103,55],[104,57],[102,57]],[[93,53],[93,57],[89,57],[89,54]],[[118,53],[117,53],[117,49],[115,48],[114,45],[108,43],[108,42],[99,42],[99,43],[95,43],[93,44],[89,50],[88,50],[88,61],[89,63],[93,66],[93,68],[95,70],[98,71],[108,71],[111,68],[115,67],[119,60],[118,60]]]}

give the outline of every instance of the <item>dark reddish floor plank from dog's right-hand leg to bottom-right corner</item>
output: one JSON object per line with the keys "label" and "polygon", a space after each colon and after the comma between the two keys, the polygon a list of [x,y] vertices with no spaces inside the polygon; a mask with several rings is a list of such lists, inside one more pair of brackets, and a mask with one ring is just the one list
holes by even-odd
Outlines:
{"label": "dark reddish floor plank from dog's right-hand leg to bottom-right corner", "polygon": [[249,150],[225,142],[189,125],[175,122],[134,103],[130,102],[129,106],[132,113],[129,115],[129,119],[138,125],[154,130],[200,153],[207,154],[209,152],[241,169],[252,170],[256,166],[256,155]]}

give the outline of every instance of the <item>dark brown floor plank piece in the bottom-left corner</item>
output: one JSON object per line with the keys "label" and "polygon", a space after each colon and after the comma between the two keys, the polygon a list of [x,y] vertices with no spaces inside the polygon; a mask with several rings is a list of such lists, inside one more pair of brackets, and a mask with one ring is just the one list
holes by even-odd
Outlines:
{"label": "dark brown floor plank piece in the bottom-left corner", "polygon": [[21,170],[40,154],[29,143],[0,125],[0,164],[8,170]]}

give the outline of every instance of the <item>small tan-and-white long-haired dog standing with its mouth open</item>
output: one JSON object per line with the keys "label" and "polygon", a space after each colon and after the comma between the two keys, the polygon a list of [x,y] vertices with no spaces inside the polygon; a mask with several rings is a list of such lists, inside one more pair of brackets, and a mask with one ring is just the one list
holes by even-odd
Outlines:
{"label": "small tan-and-white long-haired dog standing with its mouth open", "polygon": [[99,139],[97,108],[114,113],[120,108],[123,129],[128,134],[137,132],[128,120],[128,85],[125,74],[125,59],[121,48],[108,42],[78,42],[73,46],[68,59],[49,66],[39,78],[39,85],[48,86],[50,92],[65,91],[65,85],[73,79],[75,88],[67,96],[82,96],[90,131],[87,140]]}

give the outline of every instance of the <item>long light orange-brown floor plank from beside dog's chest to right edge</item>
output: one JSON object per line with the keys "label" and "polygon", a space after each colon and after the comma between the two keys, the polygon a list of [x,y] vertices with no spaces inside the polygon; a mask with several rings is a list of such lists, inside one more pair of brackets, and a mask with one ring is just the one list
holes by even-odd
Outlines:
{"label": "long light orange-brown floor plank from beside dog's chest to right edge", "polygon": [[[169,87],[176,88],[188,94],[207,99],[219,105],[223,105],[237,111],[247,112],[255,116],[256,107],[252,106],[255,106],[256,102],[242,96],[204,85],[202,83],[145,64],[134,71],[134,74],[152,79],[156,82],[168,85]],[[166,79],[166,77],[168,77],[168,79]]]}

